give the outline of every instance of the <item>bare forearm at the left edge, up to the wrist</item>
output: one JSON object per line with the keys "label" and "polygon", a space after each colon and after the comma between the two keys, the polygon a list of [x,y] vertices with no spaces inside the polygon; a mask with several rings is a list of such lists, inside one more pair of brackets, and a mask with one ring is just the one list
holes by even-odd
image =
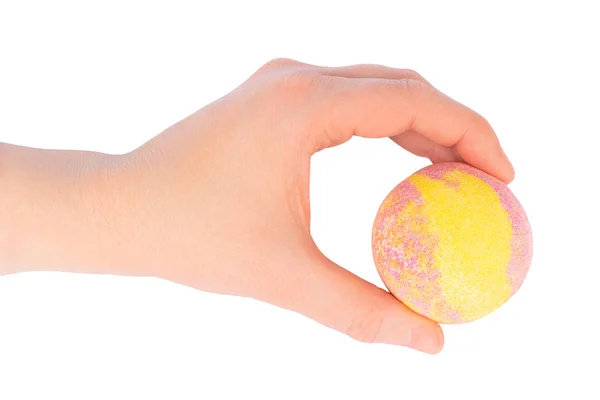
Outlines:
{"label": "bare forearm at the left edge, up to the wrist", "polygon": [[[0,143],[0,274],[112,273],[114,156]],[[121,268],[122,266],[119,266]]]}

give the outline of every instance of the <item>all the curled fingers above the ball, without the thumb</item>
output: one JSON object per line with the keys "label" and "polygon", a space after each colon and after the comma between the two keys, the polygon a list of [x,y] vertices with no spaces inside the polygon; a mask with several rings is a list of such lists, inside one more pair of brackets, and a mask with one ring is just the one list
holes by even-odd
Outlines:
{"label": "all the curled fingers above the ball, without the thumb", "polygon": [[[273,60],[261,70],[280,68],[332,78],[321,85],[322,101],[313,101],[316,120],[309,128],[317,137],[312,151],[341,144],[353,135],[391,137],[409,150],[418,147],[421,153],[431,153],[434,162],[456,159],[506,183],[514,178],[514,168],[489,123],[415,71],[373,64],[323,67],[289,59]],[[399,136],[408,131],[413,134]],[[415,139],[417,135],[426,140]]]}

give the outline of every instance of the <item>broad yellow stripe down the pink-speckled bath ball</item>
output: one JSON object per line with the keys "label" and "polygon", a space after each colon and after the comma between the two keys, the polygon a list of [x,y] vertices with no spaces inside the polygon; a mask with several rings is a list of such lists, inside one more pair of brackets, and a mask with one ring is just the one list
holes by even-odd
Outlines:
{"label": "broad yellow stripe down the pink-speckled bath ball", "polygon": [[438,239],[433,259],[442,298],[463,321],[500,307],[511,296],[512,227],[497,193],[459,169],[444,180],[417,173],[409,181],[423,199],[426,229]]}

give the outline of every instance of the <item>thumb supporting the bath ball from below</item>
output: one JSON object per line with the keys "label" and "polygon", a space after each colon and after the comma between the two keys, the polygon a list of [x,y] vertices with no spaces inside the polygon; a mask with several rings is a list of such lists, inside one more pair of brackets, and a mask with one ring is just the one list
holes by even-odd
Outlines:
{"label": "thumb supporting the bath ball from below", "polygon": [[303,271],[303,282],[296,286],[301,294],[290,308],[361,342],[401,345],[429,354],[441,351],[444,339],[437,323],[326,257],[319,258]]}

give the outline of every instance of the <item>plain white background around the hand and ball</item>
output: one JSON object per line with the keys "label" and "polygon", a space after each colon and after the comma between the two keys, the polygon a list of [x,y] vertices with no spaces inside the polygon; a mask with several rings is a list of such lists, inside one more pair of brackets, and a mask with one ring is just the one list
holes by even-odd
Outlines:
{"label": "plain white background around the hand and ball", "polygon": [[[3,277],[0,399],[600,398],[594,2],[150,3],[0,2],[0,141],[132,150],[275,57],[412,68],[498,133],[531,272],[437,356],[159,280]],[[322,250],[381,286],[373,218],[425,165],[389,140],[315,156]]]}

